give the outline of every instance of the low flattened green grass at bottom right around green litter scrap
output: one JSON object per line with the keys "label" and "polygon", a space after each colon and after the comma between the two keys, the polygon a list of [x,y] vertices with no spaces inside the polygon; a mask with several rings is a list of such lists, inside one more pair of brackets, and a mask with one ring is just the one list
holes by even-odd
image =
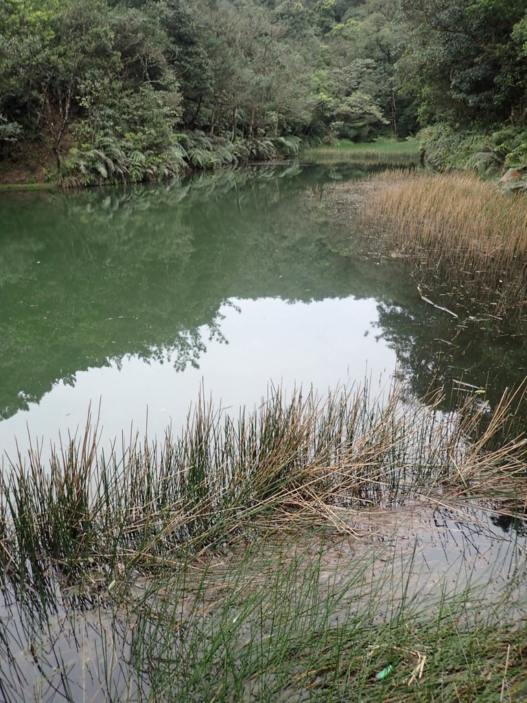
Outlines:
{"label": "low flattened green grass at bottom right around green litter scrap", "polygon": [[[390,568],[371,579],[371,557],[327,569],[321,552],[258,548],[223,576],[205,569],[186,613],[158,604],[166,619],[157,629],[153,618],[154,637],[147,607],[133,657],[169,662],[152,667],[154,699],[429,700],[438,690],[455,699],[457,690],[469,700],[485,690],[490,701],[504,672],[515,695],[527,690],[522,635],[503,641],[481,616],[476,588],[410,602],[411,561],[392,583]],[[380,549],[377,558],[386,556]],[[167,588],[164,598],[181,602],[181,592]],[[393,676],[378,681],[386,666]]]}

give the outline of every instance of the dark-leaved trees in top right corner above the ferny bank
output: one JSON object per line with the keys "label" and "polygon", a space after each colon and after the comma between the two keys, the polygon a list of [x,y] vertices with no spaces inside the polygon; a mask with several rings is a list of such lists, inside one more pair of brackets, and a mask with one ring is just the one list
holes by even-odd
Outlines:
{"label": "dark-leaved trees in top right corner above the ferny bank", "polygon": [[398,64],[422,124],[524,124],[527,74],[523,0],[403,0],[410,28]]}

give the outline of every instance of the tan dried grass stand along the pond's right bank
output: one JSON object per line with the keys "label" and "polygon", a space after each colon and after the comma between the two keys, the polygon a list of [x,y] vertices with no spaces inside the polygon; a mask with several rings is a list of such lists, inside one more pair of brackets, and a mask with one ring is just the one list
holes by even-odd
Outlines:
{"label": "tan dried grass stand along the pond's right bank", "polygon": [[385,224],[393,243],[485,269],[526,262],[525,195],[505,195],[470,173],[386,172],[376,181],[381,187],[370,192],[360,217]]}

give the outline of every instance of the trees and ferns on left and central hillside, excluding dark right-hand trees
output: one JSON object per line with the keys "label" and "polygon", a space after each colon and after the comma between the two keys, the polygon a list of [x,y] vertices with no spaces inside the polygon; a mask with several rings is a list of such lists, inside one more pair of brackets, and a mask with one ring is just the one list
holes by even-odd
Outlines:
{"label": "trees and ferns on left and central hillside, excluding dark right-hand trees", "polygon": [[[370,134],[390,119],[382,75],[395,34],[389,12],[362,6],[356,19],[336,0],[10,0],[0,110],[51,138],[74,183],[291,156],[301,136],[337,124]],[[115,160],[105,139],[125,156]]]}

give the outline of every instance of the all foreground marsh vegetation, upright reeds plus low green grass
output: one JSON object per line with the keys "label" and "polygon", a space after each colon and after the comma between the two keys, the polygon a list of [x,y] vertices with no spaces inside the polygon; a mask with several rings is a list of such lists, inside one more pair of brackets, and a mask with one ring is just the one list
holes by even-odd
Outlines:
{"label": "all foreground marsh vegetation, upright reeds plus low green grass", "polygon": [[273,391],[237,420],[200,399],[159,446],[105,454],[88,418],[46,465],[39,447],[18,456],[1,484],[2,699],[525,699],[514,589],[462,559],[459,588],[419,595],[417,538],[353,546],[353,515],[422,494],[521,513],[526,443],[506,430],[522,393],[444,413],[440,392]]}

